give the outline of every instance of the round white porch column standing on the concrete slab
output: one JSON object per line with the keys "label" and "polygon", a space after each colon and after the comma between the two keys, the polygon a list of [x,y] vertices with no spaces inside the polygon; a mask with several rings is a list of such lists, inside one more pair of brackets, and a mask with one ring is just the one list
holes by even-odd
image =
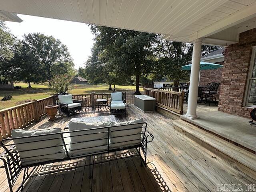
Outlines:
{"label": "round white porch column standing on the concrete slab", "polygon": [[190,84],[188,92],[188,111],[186,116],[191,119],[196,119],[196,105],[198,98],[198,83],[199,83],[199,71],[200,71],[200,59],[201,59],[201,47],[202,39],[195,40],[192,53],[192,66],[190,72]]}

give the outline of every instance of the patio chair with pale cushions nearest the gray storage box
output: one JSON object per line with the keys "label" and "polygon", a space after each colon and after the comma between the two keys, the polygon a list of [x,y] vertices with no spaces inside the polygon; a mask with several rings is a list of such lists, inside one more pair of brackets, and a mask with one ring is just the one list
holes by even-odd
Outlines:
{"label": "patio chair with pale cushions nearest the gray storage box", "polygon": [[127,104],[124,102],[122,92],[111,93],[110,114],[124,113],[126,114]]}

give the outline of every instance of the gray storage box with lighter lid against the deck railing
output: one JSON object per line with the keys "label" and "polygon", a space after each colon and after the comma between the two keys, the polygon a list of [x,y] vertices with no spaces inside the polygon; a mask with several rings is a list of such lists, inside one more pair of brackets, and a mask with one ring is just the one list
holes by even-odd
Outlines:
{"label": "gray storage box with lighter lid against the deck railing", "polygon": [[156,110],[156,98],[148,95],[135,95],[134,105],[144,112]]}

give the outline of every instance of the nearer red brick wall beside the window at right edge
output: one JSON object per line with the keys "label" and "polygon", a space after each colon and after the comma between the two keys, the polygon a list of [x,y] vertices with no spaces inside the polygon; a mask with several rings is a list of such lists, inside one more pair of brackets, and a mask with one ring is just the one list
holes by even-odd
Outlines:
{"label": "nearer red brick wall beside the window at right edge", "polygon": [[252,46],[256,46],[256,28],[241,33],[239,42],[227,47],[218,110],[250,118],[251,108],[244,107],[243,101]]}

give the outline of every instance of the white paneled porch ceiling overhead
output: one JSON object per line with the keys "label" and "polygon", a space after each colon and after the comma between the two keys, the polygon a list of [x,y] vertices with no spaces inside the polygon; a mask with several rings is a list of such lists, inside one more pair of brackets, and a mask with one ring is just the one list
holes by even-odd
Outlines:
{"label": "white paneled porch ceiling overhead", "polygon": [[255,0],[0,0],[0,11],[152,32],[189,42],[191,35],[252,4]]}

